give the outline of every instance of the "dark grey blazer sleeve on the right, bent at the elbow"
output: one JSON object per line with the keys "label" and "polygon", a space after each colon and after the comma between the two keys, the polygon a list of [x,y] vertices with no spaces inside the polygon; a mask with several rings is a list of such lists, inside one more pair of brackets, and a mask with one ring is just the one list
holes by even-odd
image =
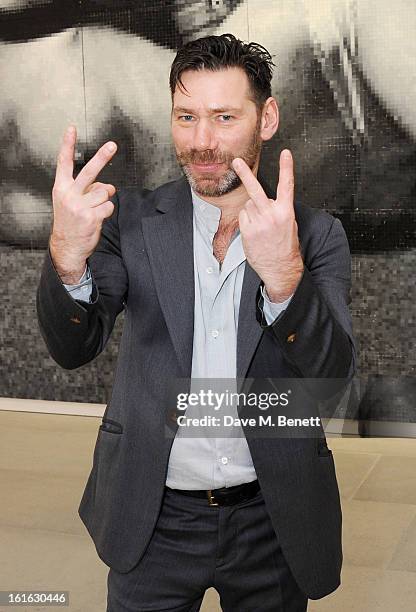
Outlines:
{"label": "dark grey blazer sleeve on the right, bent at the elbow", "polygon": [[357,352],[349,311],[351,255],[339,219],[332,217],[323,244],[309,259],[287,308],[270,325],[258,319],[299,376],[344,379],[342,387],[356,371]]}

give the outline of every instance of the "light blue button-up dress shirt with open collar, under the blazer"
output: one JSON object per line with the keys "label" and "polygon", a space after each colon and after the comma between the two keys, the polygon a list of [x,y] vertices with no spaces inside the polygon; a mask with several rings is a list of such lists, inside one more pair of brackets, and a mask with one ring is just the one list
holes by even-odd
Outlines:
{"label": "light blue button-up dress shirt with open collar, under the blazer", "polygon": [[[231,239],[222,266],[213,254],[221,209],[192,191],[194,232],[195,310],[191,392],[196,379],[236,381],[237,327],[246,257],[240,231]],[[76,285],[64,285],[74,299],[88,302],[92,291],[89,266]],[[273,303],[261,288],[267,324],[288,306],[292,296]],[[231,381],[232,382],[232,381]],[[227,384],[229,391],[236,386]],[[196,386],[196,389],[200,389]],[[204,388],[207,388],[204,386]],[[225,388],[225,387],[224,387]],[[229,413],[229,412],[228,412]],[[201,416],[188,406],[186,416]],[[238,416],[235,413],[235,416]],[[217,489],[257,478],[251,453],[241,427],[221,429],[221,437],[190,437],[178,427],[169,457],[166,485],[174,489]],[[201,431],[201,430],[199,430]]]}

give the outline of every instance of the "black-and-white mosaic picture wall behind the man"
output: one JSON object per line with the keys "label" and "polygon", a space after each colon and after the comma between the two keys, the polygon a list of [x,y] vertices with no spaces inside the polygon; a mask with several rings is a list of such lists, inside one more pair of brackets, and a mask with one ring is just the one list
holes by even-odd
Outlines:
{"label": "black-and-white mosaic picture wall behind the man", "polygon": [[276,65],[262,174],[274,186],[289,148],[296,199],[349,239],[360,399],[347,416],[416,423],[415,31],[405,0],[0,0],[0,397],[109,401],[123,315],[75,371],[37,325],[62,135],[77,126],[76,172],[114,140],[99,180],[117,188],[179,178],[170,65],[184,42],[231,32]]}

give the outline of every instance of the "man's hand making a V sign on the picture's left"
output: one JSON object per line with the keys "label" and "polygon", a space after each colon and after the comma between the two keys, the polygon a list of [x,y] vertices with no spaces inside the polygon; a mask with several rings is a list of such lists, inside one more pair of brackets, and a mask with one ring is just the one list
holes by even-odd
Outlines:
{"label": "man's hand making a V sign on the picture's left", "polygon": [[55,268],[66,284],[76,284],[83,275],[86,260],[100,240],[103,221],[114,212],[109,198],[116,192],[113,185],[94,180],[113,157],[117,145],[106,142],[74,179],[76,139],[75,126],[70,126],[59,151],[52,189],[49,248]]}

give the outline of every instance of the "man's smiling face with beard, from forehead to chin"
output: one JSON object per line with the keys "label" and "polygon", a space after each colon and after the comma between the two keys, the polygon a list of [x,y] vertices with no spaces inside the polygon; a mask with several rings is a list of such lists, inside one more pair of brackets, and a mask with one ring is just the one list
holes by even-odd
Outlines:
{"label": "man's smiling face with beard, from forehead to chin", "polygon": [[241,68],[189,70],[181,80],[186,91],[176,87],[171,122],[176,157],[196,193],[219,197],[241,185],[231,166],[234,158],[254,168],[262,145],[261,115]]}

